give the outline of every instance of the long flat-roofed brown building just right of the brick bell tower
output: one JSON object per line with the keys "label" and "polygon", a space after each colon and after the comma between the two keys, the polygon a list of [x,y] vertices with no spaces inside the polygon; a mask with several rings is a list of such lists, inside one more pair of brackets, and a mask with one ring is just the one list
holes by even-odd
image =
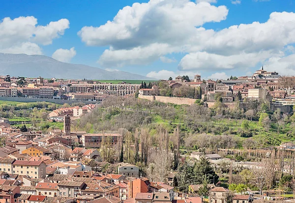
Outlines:
{"label": "long flat-roofed brown building just right of the brick bell tower", "polygon": [[104,134],[85,134],[82,135],[82,144],[84,147],[96,147],[99,148],[101,146],[102,140],[106,137],[111,137],[112,145],[117,145],[119,139],[122,135],[120,134],[112,134],[112,133],[104,133]]}

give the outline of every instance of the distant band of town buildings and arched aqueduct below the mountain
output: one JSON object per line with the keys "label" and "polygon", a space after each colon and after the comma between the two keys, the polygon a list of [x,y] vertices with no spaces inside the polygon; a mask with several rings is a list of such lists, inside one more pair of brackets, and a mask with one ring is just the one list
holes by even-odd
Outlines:
{"label": "distant band of town buildings and arched aqueduct below the mountain", "polygon": [[[22,83],[19,83],[22,80]],[[100,83],[94,80],[63,80],[52,78],[16,78],[0,76],[0,96],[95,101],[100,103],[109,95],[130,95],[140,88],[132,85]]]}

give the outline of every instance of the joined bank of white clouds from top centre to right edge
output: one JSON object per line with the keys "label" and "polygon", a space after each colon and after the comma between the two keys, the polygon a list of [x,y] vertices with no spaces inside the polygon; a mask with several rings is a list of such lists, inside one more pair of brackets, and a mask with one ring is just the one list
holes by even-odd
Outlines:
{"label": "joined bank of white clouds from top centre to right edge", "polygon": [[109,46],[98,60],[105,67],[148,64],[159,58],[170,61],[167,55],[184,53],[178,64],[182,71],[249,68],[292,51],[295,13],[273,12],[266,22],[218,31],[205,29],[204,24],[227,17],[227,7],[210,4],[215,1],[134,3],[119,10],[112,21],[99,27],[84,27],[78,35],[88,46]]}

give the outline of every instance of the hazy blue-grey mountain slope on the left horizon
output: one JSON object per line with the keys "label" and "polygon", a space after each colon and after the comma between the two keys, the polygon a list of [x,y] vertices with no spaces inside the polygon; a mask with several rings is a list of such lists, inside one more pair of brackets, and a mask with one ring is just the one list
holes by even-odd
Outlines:
{"label": "hazy blue-grey mountain slope on the left horizon", "polygon": [[60,62],[51,57],[0,53],[0,75],[89,80],[156,80],[124,71]]}

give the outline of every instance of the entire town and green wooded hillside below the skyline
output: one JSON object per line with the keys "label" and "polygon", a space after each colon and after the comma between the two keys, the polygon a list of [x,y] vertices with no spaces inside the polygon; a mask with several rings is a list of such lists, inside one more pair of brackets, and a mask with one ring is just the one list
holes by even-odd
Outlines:
{"label": "entire town and green wooded hillside below the skyline", "polygon": [[294,202],[293,77],[0,78],[3,203]]}

